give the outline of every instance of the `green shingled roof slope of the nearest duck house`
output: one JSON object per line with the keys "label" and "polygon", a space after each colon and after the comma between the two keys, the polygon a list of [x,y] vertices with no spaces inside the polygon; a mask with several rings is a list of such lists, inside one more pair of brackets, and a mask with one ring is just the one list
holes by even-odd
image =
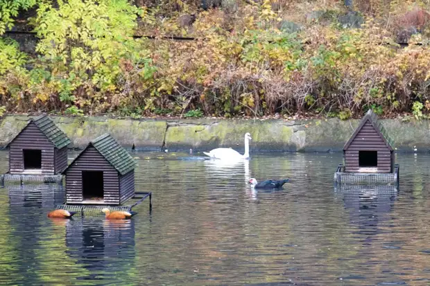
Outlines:
{"label": "green shingled roof slope of the nearest duck house", "polygon": [[91,141],[91,145],[115,168],[121,175],[126,175],[136,166],[131,155],[117,143],[109,134],[103,134]]}

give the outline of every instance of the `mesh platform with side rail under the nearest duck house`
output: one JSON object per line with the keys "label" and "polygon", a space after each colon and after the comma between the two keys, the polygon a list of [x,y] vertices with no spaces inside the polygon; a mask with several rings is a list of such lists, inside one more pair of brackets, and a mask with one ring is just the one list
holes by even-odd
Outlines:
{"label": "mesh platform with side rail under the nearest duck house", "polygon": [[60,204],[57,209],[63,209],[67,211],[74,211],[84,214],[89,213],[102,213],[103,208],[109,208],[110,211],[131,211],[132,208],[144,202],[146,198],[149,198],[149,210],[153,208],[153,195],[152,192],[136,192],[135,196],[128,200],[128,204],[125,206],[110,206],[110,205],[100,205],[100,204]]}

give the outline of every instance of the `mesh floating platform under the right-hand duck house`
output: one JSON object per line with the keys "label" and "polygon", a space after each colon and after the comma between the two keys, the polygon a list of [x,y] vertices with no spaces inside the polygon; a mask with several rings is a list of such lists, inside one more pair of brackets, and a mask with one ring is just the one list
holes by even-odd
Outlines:
{"label": "mesh floating platform under the right-hand duck house", "polygon": [[345,172],[345,166],[339,164],[334,172],[334,187],[341,185],[385,185],[399,187],[399,164],[395,164],[392,173],[352,173]]}

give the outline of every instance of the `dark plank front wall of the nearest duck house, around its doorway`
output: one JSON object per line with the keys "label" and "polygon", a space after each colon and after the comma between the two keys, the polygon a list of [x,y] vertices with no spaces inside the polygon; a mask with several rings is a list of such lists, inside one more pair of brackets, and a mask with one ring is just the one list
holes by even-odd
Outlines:
{"label": "dark plank front wall of the nearest duck house, around its doorway", "polygon": [[66,172],[66,202],[83,201],[82,171],[103,171],[105,204],[119,204],[119,176],[117,170],[94,147],[89,147],[71,164]]}

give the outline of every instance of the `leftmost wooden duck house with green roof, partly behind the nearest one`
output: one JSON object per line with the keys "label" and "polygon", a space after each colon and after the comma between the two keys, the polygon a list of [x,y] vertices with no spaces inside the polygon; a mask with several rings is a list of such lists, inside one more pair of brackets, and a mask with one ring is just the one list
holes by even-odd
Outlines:
{"label": "leftmost wooden duck house with green roof, partly behind the nearest one", "polygon": [[57,175],[67,168],[67,135],[42,114],[28,124],[6,146],[10,175]]}

